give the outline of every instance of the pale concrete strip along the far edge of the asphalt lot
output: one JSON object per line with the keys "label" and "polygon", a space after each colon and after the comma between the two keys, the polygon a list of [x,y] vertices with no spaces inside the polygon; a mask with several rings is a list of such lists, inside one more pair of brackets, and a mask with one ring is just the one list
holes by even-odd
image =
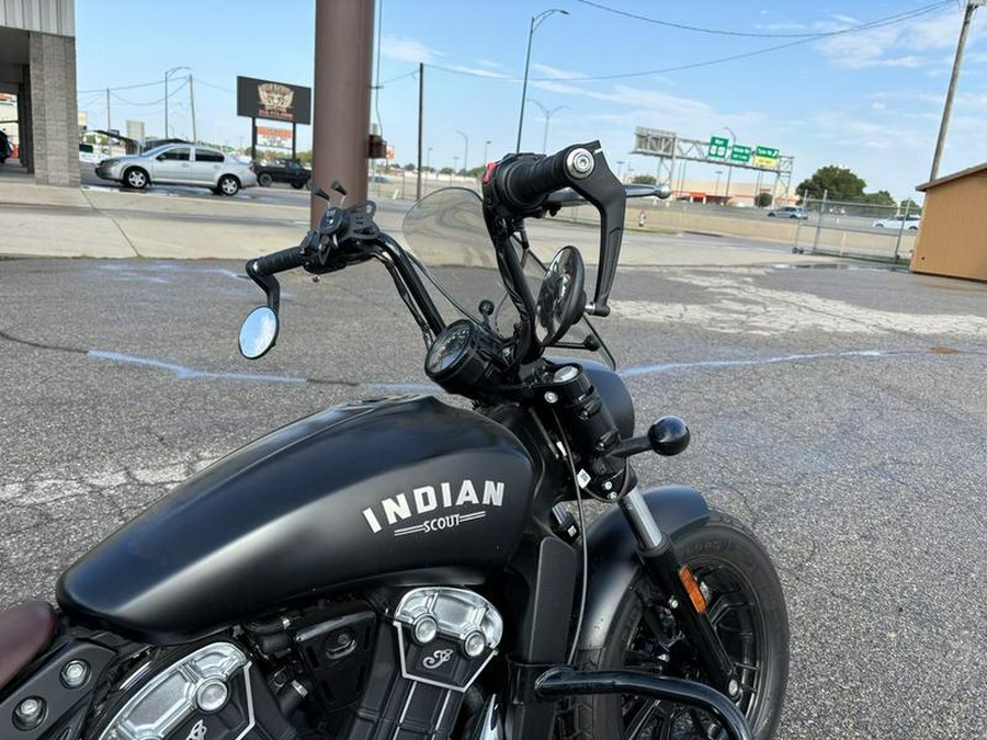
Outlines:
{"label": "pale concrete strip along the far edge of the asphalt lot", "polygon": [[[401,239],[406,202],[377,212],[381,227]],[[308,228],[307,201],[258,203],[246,198],[124,192],[103,187],[49,187],[0,179],[0,255],[112,259],[245,260],[298,243]],[[597,261],[591,226],[531,219],[535,244],[576,243],[588,264]],[[540,252],[541,253],[541,252]],[[737,239],[681,237],[631,229],[625,265],[756,265],[820,262],[829,258],[787,253],[776,244]]]}

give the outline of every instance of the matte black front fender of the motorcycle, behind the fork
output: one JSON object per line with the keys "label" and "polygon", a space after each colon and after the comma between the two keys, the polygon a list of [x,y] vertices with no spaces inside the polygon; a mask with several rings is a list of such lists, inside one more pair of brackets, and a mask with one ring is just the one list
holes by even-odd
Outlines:
{"label": "matte black front fender of the motorcycle, behind the fork", "polygon": [[[710,517],[710,505],[703,494],[689,486],[662,486],[645,491],[643,496],[662,534],[672,538],[701,527]],[[599,650],[640,568],[640,560],[637,558],[637,539],[616,506],[597,517],[587,530],[586,540],[589,583],[579,649]]]}

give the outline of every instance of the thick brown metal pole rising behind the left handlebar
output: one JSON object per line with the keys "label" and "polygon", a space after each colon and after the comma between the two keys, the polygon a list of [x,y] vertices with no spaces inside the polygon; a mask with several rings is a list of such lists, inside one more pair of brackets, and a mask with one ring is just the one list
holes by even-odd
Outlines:
{"label": "thick brown metal pole rising behind the left handlebar", "polygon": [[[313,189],[339,180],[348,201],[366,198],[374,0],[316,0]],[[326,204],[313,198],[309,221]]]}

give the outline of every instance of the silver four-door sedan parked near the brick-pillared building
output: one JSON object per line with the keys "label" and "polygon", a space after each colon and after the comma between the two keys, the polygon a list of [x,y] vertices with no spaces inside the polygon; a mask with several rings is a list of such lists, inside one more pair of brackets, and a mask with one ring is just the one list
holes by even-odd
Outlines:
{"label": "silver four-door sedan parked near the brick-pillared building", "polygon": [[152,184],[198,185],[217,195],[236,195],[241,187],[257,184],[251,162],[192,144],[166,144],[143,155],[104,159],[97,174],[136,190]]}

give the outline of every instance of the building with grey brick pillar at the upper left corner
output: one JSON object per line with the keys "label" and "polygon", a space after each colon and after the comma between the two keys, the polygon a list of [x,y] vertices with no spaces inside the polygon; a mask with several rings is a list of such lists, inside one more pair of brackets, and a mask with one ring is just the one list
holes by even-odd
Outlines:
{"label": "building with grey brick pillar at the upper left corner", "polygon": [[78,185],[75,0],[0,0],[0,93],[15,96],[3,128],[20,164],[39,185]]}

